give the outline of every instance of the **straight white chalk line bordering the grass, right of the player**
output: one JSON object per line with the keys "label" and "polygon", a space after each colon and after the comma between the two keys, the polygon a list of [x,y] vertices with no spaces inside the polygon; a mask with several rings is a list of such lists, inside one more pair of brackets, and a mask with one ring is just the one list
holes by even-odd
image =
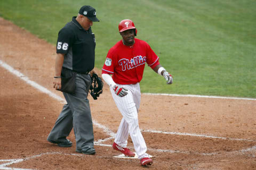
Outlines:
{"label": "straight white chalk line bordering the grass, right of the player", "polygon": [[239,97],[223,97],[223,96],[203,96],[203,95],[178,95],[178,94],[150,94],[143,93],[144,95],[160,95],[160,96],[179,96],[179,97],[202,97],[202,98],[218,98],[218,99],[237,99],[237,100],[256,100],[255,98],[239,98]]}

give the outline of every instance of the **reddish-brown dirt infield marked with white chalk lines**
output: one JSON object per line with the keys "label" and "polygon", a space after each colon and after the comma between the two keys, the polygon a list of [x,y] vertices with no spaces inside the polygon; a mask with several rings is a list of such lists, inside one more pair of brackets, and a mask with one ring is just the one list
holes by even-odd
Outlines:
{"label": "reddish-brown dirt infield marked with white chalk lines", "polygon": [[256,169],[256,100],[142,94],[139,123],[153,156],[142,167],[114,157],[121,114],[107,85],[98,100],[89,96],[96,154],[78,154],[74,132],[70,148],[46,141],[65,101],[52,88],[55,47],[0,18],[0,52],[0,169]]}

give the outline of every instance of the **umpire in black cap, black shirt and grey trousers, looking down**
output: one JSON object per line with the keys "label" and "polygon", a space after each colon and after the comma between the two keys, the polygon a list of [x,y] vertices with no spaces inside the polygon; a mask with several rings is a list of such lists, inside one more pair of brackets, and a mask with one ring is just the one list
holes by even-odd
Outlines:
{"label": "umpire in black cap, black shirt and grey trousers, looking down", "polygon": [[62,91],[67,104],[63,106],[47,138],[47,141],[60,147],[71,147],[73,143],[67,137],[74,127],[76,151],[89,155],[95,154],[91,110],[87,99],[91,85],[89,73],[94,73],[96,43],[91,27],[95,21],[99,21],[96,10],[84,5],[77,16],[73,16],[72,21],[59,31],[53,88],[62,91],[64,85],[70,87],[71,83],[63,84],[62,78],[73,77],[75,90],[71,93]]}

